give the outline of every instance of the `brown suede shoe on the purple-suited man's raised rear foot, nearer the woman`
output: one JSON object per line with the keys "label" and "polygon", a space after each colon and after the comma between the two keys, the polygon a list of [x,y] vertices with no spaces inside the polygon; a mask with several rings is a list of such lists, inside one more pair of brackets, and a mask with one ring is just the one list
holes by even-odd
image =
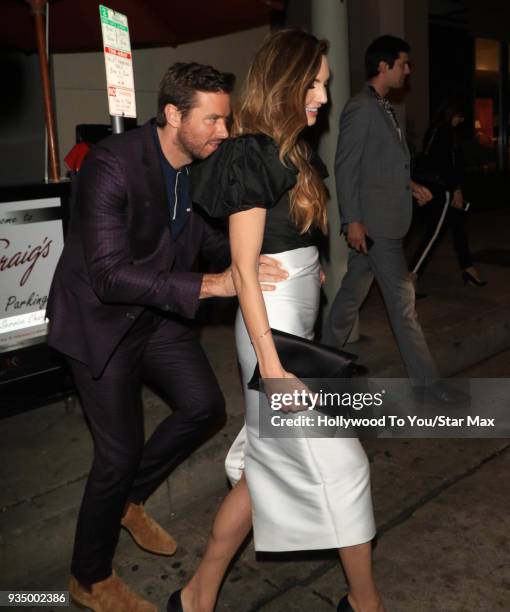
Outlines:
{"label": "brown suede shoe on the purple-suited man's raised rear foot, nearer the woman", "polygon": [[145,514],[142,504],[129,504],[121,521],[140,548],[157,555],[173,555],[177,544],[161,525]]}

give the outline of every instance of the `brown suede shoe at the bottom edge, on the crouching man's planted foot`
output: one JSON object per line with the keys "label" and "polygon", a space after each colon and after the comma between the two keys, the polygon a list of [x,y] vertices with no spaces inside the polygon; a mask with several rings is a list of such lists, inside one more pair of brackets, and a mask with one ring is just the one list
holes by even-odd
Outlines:
{"label": "brown suede shoe at the bottom edge, on the crouching man's planted foot", "polygon": [[74,576],[69,580],[69,594],[74,602],[95,612],[157,612],[152,605],[134,593],[115,572],[90,588],[81,585]]}

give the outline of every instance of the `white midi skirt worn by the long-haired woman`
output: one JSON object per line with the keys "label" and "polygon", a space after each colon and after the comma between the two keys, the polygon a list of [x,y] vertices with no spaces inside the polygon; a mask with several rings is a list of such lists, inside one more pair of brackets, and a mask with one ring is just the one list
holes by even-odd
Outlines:
{"label": "white midi skirt worn by the long-haired woman", "polygon": [[[271,254],[289,272],[265,292],[269,324],[313,337],[319,307],[315,247]],[[239,311],[236,345],[245,393],[246,424],[227,459],[232,483],[243,473],[250,491],[255,549],[281,552],[340,548],[370,541],[375,523],[369,464],[354,438],[259,438],[259,398],[247,389],[256,356]]]}

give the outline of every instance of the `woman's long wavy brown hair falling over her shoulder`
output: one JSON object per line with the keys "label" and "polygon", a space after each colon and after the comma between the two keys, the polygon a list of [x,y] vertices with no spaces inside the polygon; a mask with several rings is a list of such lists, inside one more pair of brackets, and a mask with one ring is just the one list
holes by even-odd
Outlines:
{"label": "woman's long wavy brown hair falling over her shoulder", "polygon": [[327,191],[311,164],[311,150],[299,135],[307,126],[305,98],[328,50],[325,40],[303,30],[270,35],[257,51],[234,113],[232,135],[266,134],[276,141],[283,164],[298,169],[290,191],[290,216],[301,233],[327,231]]}

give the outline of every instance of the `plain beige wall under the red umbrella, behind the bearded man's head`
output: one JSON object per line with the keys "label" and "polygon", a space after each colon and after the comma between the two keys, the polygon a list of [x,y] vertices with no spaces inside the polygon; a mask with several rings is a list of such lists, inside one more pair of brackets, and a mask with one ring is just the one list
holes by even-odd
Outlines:
{"label": "plain beige wall under the red umbrella, behind the bearded man's head", "polygon": [[[156,114],[158,85],[165,70],[177,61],[211,64],[237,76],[241,85],[251,58],[269,34],[269,26],[244,30],[179,47],[133,51],[138,124]],[[79,123],[110,123],[103,54],[60,53],[52,56],[61,173],[63,158],[75,143]]]}

